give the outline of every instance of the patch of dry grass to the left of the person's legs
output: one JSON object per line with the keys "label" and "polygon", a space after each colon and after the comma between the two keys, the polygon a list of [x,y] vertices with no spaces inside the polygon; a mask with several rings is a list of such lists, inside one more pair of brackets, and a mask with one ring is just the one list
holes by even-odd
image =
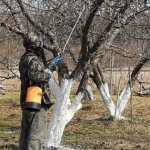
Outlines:
{"label": "patch of dry grass to the left of the person's legs", "polygon": [[6,93],[0,96],[0,149],[15,149],[19,138],[20,106],[19,93]]}

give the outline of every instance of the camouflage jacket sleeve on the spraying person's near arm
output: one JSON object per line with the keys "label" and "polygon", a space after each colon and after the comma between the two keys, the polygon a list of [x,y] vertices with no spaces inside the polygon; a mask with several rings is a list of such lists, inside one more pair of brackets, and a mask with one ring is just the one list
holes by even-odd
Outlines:
{"label": "camouflage jacket sleeve on the spraying person's near arm", "polygon": [[50,77],[44,73],[44,69],[45,67],[38,57],[32,58],[28,68],[29,79],[34,82],[48,81]]}

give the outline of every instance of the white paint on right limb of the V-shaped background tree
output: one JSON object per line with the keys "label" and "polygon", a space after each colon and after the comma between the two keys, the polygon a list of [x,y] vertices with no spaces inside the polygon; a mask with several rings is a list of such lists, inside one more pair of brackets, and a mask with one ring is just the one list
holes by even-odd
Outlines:
{"label": "white paint on right limb of the V-shaped background tree", "polygon": [[124,117],[121,115],[127,105],[130,96],[131,96],[131,88],[130,85],[127,84],[127,86],[124,88],[124,90],[122,91],[121,95],[118,97],[117,100],[116,113],[115,113],[116,120],[124,119]]}

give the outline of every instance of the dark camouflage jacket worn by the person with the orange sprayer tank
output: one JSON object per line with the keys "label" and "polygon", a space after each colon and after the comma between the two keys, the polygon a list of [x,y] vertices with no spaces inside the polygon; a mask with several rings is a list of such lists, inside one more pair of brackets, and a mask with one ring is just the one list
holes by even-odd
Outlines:
{"label": "dark camouflage jacket worn by the person with the orange sprayer tank", "polygon": [[34,51],[26,51],[19,63],[19,72],[21,79],[20,103],[24,107],[27,88],[32,85],[37,85],[43,89],[42,104],[50,107],[50,91],[48,86],[49,76],[44,73],[44,63],[42,58],[34,53]]}

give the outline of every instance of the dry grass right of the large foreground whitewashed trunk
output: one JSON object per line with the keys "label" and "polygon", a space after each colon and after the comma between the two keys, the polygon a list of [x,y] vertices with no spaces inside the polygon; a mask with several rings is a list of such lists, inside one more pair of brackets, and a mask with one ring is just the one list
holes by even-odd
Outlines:
{"label": "dry grass right of the large foreground whitewashed trunk", "polygon": [[84,103],[65,130],[64,144],[88,150],[150,149],[150,98],[134,97],[132,114],[130,104],[124,114],[129,120],[115,122],[107,120],[99,99]]}

